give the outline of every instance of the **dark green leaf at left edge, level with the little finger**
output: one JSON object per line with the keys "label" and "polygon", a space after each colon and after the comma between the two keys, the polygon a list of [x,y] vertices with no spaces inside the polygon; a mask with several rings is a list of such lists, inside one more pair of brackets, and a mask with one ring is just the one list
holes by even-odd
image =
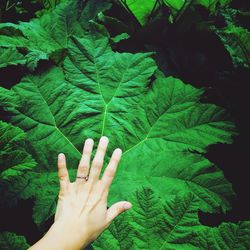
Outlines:
{"label": "dark green leaf at left edge, level with the little finger", "polygon": [[0,121],[0,140],[0,205],[13,206],[26,198],[25,190],[31,181],[28,173],[33,173],[36,162],[27,151],[26,134],[20,128]]}

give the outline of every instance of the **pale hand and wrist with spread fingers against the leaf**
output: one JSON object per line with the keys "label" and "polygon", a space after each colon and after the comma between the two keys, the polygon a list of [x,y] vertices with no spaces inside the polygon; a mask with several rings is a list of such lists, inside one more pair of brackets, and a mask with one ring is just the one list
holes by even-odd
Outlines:
{"label": "pale hand and wrist with spread fingers against the leaf", "polygon": [[127,201],[119,201],[107,209],[110,185],[115,177],[122,150],[116,148],[105,171],[100,177],[104,156],[109,143],[102,136],[90,167],[94,141],[88,138],[83,147],[77,176],[70,182],[66,157],[58,155],[60,191],[54,223],[48,232],[29,250],[80,250],[94,241],[119,214],[131,208]]}

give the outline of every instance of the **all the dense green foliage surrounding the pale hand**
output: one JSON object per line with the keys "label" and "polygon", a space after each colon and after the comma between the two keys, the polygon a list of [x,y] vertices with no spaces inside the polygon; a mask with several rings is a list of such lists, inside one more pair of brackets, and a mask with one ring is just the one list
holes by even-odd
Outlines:
{"label": "all the dense green foliage surrounding the pale hand", "polygon": [[[0,87],[1,206],[34,199],[43,231],[57,202],[57,154],[66,154],[73,180],[83,141],[106,135],[105,163],[115,147],[123,150],[108,206],[126,199],[133,209],[93,249],[250,248],[248,221],[199,221],[198,211],[231,209],[232,185],[205,153],[238,132],[224,108],[201,101],[205,88],[176,77],[185,72],[178,49],[191,26],[218,38],[231,67],[249,68],[249,31],[229,1],[37,2],[37,18],[0,23],[0,68],[22,69],[18,82]],[[148,39],[159,23],[160,43]],[[1,249],[25,247],[22,236],[0,234]]]}

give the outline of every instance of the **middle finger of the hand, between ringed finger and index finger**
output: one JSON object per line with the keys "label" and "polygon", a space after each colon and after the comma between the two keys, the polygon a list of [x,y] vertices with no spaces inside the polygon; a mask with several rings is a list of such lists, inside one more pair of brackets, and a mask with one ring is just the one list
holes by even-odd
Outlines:
{"label": "middle finger of the hand, between ringed finger and index finger", "polygon": [[88,182],[90,183],[94,183],[99,179],[108,143],[108,137],[102,136],[97,147],[96,155],[91,165],[88,180]]}

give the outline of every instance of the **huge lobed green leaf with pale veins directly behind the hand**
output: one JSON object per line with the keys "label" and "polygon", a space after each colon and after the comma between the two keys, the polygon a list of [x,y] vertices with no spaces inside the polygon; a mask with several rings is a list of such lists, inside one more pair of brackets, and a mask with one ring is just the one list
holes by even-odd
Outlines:
{"label": "huge lobed green leaf with pale veins directly behind the hand", "polygon": [[26,187],[22,197],[36,198],[35,221],[55,210],[57,154],[66,154],[73,177],[84,140],[101,135],[110,138],[105,162],[115,147],[123,150],[109,206],[146,183],[166,200],[192,191],[203,211],[228,210],[231,185],[203,156],[208,145],[232,142],[225,111],[200,103],[202,89],[173,77],[153,80],[151,53],[113,52],[105,30],[90,29],[71,37],[63,70],[53,67],[0,89],[0,102],[26,132],[38,163],[18,182]]}

